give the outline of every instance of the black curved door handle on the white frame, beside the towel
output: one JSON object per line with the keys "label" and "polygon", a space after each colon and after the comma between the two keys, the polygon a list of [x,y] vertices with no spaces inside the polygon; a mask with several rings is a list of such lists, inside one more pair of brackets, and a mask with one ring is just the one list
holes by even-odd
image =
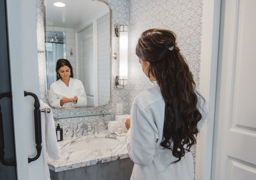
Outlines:
{"label": "black curved door handle on the white frame, beside the towel", "polygon": [[35,142],[36,142],[36,156],[34,158],[28,158],[28,163],[37,160],[40,157],[42,151],[42,128],[41,128],[41,110],[40,102],[36,94],[32,92],[24,91],[24,96],[32,96],[34,102],[34,124],[35,124]]}

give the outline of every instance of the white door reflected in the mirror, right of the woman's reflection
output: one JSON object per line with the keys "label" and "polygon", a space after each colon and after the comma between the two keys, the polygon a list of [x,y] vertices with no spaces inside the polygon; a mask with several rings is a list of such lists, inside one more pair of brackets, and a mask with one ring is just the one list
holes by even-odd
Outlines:
{"label": "white door reflected in the mirror, right of the woman's reflection", "polygon": [[78,78],[84,84],[87,105],[95,103],[95,68],[93,26],[78,33]]}

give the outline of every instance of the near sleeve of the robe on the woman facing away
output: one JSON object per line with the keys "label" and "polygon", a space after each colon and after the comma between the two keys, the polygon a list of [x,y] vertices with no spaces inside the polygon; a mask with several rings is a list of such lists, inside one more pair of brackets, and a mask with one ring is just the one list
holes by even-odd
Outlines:
{"label": "near sleeve of the robe on the woman facing away", "polygon": [[154,116],[150,110],[145,111],[138,102],[131,109],[131,127],[126,134],[127,150],[135,164],[147,166],[152,162],[156,151],[158,134]]}

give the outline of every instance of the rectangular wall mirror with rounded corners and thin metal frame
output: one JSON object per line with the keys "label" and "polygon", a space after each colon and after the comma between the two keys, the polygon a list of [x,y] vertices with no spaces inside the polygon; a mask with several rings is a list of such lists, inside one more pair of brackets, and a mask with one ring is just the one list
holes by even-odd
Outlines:
{"label": "rectangular wall mirror with rounded corners and thin metal frame", "polygon": [[[45,0],[49,105],[63,109],[108,104],[112,92],[112,11],[109,4],[104,0],[60,0],[65,6],[56,7],[55,2]],[[58,59],[70,62],[69,72],[65,69],[56,73]],[[70,73],[68,79],[64,72]]]}

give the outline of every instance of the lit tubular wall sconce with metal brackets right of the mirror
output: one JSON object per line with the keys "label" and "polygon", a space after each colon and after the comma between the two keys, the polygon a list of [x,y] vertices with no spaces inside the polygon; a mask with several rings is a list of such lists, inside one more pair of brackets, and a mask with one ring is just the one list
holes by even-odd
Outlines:
{"label": "lit tubular wall sconce with metal brackets right of the mirror", "polygon": [[115,37],[119,37],[119,76],[115,76],[116,88],[124,88],[128,79],[128,26],[116,25]]}

